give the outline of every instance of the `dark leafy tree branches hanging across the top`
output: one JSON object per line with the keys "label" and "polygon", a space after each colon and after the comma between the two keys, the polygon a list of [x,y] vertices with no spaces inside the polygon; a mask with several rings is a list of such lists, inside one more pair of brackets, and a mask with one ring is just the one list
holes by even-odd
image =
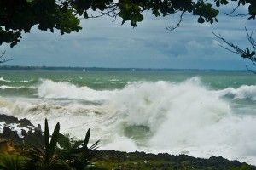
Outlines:
{"label": "dark leafy tree branches hanging across the top", "polygon": [[248,19],[255,19],[255,0],[1,0],[0,45],[6,42],[14,47],[20,42],[21,33],[30,32],[32,26],[38,26],[42,31],[58,30],[64,34],[80,31],[82,19],[103,15],[114,19],[120,17],[122,24],[130,21],[131,26],[137,26],[137,22],[144,19],[144,11],[150,11],[156,17],[177,13],[181,13],[182,17],[188,13],[198,17],[199,23],[213,24],[218,22],[218,7],[231,1],[236,2],[237,6],[247,4]]}

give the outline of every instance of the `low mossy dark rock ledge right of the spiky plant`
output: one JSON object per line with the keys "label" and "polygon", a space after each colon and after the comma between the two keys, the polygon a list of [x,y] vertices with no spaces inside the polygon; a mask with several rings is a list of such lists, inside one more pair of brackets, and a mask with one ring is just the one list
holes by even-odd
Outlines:
{"label": "low mossy dark rock ledge right of the spiky plant", "polygon": [[[116,165],[120,165],[123,169],[251,169],[256,170],[256,167],[250,166],[247,163],[239,161],[229,161],[223,157],[212,156],[209,159],[196,158],[187,155],[173,156],[169,154],[146,154],[144,152],[120,152],[114,150],[96,150],[96,158],[94,161],[104,162],[104,165],[109,166],[111,162],[112,169],[118,169]],[[145,160],[148,163],[145,163]],[[131,163],[137,162],[137,164]]]}

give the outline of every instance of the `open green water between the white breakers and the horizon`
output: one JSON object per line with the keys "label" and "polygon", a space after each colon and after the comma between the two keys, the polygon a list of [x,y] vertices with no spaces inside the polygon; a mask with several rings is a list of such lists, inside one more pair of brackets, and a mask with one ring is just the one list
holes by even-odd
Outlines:
{"label": "open green water between the white breakers and the horizon", "polygon": [[1,95],[27,97],[34,97],[36,87],[45,79],[96,90],[121,89],[130,82],[183,82],[190,77],[199,77],[212,89],[256,84],[256,76],[247,71],[0,71],[0,77],[5,80],[0,79]]}

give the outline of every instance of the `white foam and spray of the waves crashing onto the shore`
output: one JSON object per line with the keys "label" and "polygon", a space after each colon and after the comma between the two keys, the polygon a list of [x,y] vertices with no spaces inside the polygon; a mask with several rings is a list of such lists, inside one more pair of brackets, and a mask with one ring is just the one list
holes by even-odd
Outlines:
{"label": "white foam and spray of the waves crashing onto the shore", "polygon": [[[223,99],[226,95],[232,98]],[[224,156],[256,164],[256,115],[236,115],[231,105],[232,99],[255,100],[255,86],[212,90],[193,77],[180,83],[130,82],[123,89],[99,91],[42,80],[38,96],[0,99],[0,110],[26,116],[36,125],[48,117],[51,129],[61,122],[63,132],[80,139],[92,127],[92,140],[101,139],[102,149]],[[103,102],[84,104],[79,99]],[[132,128],[143,129],[147,137],[137,139]]]}

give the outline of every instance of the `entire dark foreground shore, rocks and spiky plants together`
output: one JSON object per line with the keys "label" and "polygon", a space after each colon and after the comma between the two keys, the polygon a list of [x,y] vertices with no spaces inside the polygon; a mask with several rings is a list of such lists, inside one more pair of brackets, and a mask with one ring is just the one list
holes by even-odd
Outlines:
{"label": "entire dark foreground shore, rocks and spiky plants together", "polygon": [[[13,116],[0,115],[0,118],[1,121],[20,124],[20,120]],[[26,125],[34,127],[28,120],[23,127]],[[69,135],[61,134],[60,127],[57,123],[50,135],[48,122],[45,120],[44,133],[38,126],[26,133],[23,132],[23,138],[17,139],[17,131],[9,129],[9,125],[5,124],[3,129],[9,130],[3,130],[3,133],[0,131],[0,170],[256,170],[256,167],[247,163],[229,161],[223,157],[212,156],[209,159],[202,159],[186,155],[96,150],[99,141],[88,147],[90,128],[84,140],[76,140]]]}

